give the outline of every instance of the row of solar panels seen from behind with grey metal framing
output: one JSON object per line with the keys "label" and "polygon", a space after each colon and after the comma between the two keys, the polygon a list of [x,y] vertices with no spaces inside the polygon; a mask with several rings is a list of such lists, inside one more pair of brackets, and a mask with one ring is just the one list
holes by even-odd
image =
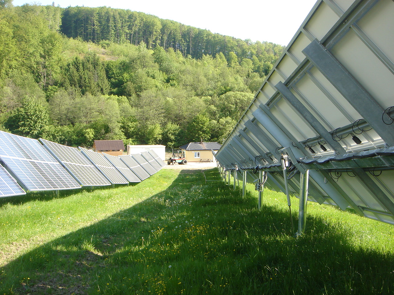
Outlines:
{"label": "row of solar panels seen from behind with grey metal framing", "polygon": [[[287,153],[296,166],[291,194],[300,191],[297,170],[310,170],[309,200],[394,224],[393,155],[379,155],[394,147],[393,15],[392,0],[318,0],[217,152],[219,163],[267,171],[266,185],[285,192]],[[362,151],[375,156],[355,159]]]}

